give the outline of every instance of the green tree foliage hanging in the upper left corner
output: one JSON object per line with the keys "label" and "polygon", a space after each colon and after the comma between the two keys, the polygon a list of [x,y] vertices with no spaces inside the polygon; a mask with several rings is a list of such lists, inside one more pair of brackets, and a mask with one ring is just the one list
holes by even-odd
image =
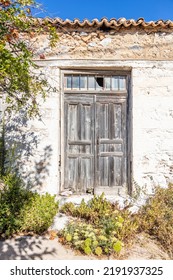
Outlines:
{"label": "green tree foliage hanging in the upper left corner", "polygon": [[45,98],[45,87],[50,88],[33,59],[33,36],[46,33],[50,47],[58,36],[48,21],[35,24],[36,10],[35,0],[0,0],[0,96],[5,96],[10,113],[25,109],[29,116],[37,114],[37,96]]}

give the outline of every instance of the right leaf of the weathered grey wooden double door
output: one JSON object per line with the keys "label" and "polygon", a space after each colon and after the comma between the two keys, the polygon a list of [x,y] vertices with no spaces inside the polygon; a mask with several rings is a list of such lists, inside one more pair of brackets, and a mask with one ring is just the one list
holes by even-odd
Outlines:
{"label": "right leaf of the weathered grey wooden double door", "polygon": [[120,193],[126,183],[126,98],[96,100],[95,192]]}

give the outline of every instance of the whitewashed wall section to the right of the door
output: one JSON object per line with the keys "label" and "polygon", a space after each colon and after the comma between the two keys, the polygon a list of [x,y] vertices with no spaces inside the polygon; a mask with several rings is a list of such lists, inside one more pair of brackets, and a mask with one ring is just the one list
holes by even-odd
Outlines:
{"label": "whitewashed wall section to the right of the door", "polygon": [[132,70],[133,168],[141,186],[173,182],[173,62]]}

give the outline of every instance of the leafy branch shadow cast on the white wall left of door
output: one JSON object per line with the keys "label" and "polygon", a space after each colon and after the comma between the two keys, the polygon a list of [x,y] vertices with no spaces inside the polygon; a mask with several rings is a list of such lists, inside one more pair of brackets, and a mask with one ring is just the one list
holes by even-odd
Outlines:
{"label": "leafy branch shadow cast on the white wall left of door", "polygon": [[41,145],[40,137],[44,134],[45,129],[34,132],[31,121],[21,115],[12,117],[4,125],[5,167],[19,173],[27,188],[36,187],[39,191],[49,176],[52,156],[51,145]]}

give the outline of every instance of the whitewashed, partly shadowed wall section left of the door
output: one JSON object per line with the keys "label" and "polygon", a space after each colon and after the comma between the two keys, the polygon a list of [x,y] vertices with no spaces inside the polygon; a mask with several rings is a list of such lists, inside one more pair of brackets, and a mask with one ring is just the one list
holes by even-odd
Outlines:
{"label": "whitewashed, partly shadowed wall section left of the door", "polygon": [[[41,69],[52,87],[59,89],[59,70]],[[46,101],[39,100],[40,117],[26,119],[25,113],[6,119],[6,149],[8,157],[15,151],[15,167],[28,188],[57,194],[59,191],[59,94],[49,92]]]}

